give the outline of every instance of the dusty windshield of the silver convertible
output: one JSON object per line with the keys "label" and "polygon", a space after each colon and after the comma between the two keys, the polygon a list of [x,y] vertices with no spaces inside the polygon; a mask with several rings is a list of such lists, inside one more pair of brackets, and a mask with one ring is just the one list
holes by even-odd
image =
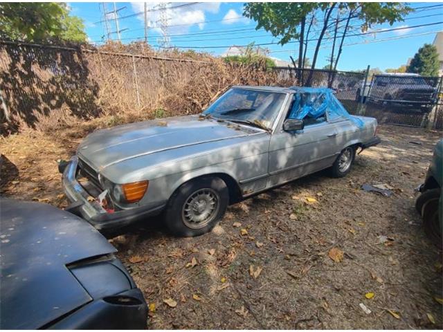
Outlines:
{"label": "dusty windshield of the silver convertible", "polygon": [[211,104],[204,114],[271,129],[284,98],[286,93],[233,88]]}

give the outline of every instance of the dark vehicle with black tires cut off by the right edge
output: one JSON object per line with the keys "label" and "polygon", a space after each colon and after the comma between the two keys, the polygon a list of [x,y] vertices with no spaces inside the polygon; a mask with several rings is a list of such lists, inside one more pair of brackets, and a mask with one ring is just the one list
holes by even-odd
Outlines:
{"label": "dark vehicle with black tires cut off by the right edge", "polygon": [[442,246],[443,233],[443,139],[435,145],[431,165],[424,183],[420,185],[415,208],[423,218],[424,231],[437,245]]}

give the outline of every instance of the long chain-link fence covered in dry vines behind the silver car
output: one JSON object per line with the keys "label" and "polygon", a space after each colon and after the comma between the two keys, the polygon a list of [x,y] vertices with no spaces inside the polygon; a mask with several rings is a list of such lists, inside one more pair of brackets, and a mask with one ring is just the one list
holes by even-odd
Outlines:
{"label": "long chain-link fence covered in dry vines behind the silver car", "polygon": [[367,78],[368,72],[226,64],[208,55],[172,58],[0,41],[0,132],[53,129],[102,114],[199,113],[235,84],[329,87],[352,114],[442,129],[440,78]]}

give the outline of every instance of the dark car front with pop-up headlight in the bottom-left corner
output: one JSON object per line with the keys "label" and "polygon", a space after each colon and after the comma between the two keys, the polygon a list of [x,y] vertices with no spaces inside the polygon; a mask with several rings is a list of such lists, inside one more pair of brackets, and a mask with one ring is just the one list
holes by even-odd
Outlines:
{"label": "dark car front with pop-up headlight in the bottom-left corner", "polygon": [[145,299],[98,230],[42,203],[0,210],[1,329],[145,329]]}

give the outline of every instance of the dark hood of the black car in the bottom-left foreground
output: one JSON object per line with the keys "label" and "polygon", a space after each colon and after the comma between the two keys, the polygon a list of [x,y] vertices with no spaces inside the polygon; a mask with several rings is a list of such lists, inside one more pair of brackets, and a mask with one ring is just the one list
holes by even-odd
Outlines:
{"label": "dark hood of the black car in the bottom-left foreground", "polygon": [[0,199],[1,329],[39,329],[92,300],[67,265],[116,252],[51,205]]}

